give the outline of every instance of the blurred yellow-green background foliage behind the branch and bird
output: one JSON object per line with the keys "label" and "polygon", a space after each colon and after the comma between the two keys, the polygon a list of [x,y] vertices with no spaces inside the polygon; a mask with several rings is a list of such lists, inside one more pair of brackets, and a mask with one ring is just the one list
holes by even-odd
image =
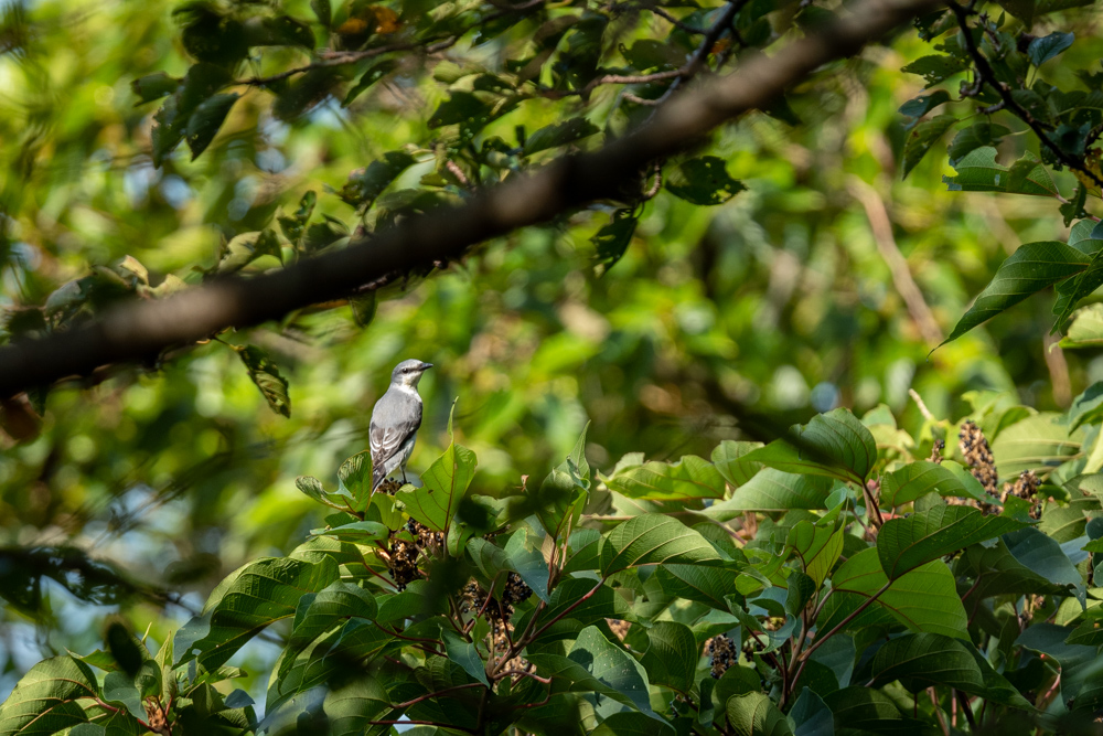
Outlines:
{"label": "blurred yellow-green background foliage behind the branch and bird", "polygon": [[[130,83],[188,71],[174,8],[3,4],[0,305],[13,313],[51,295],[62,299],[63,285],[127,256],[148,269],[150,285],[170,276],[197,282],[218,266],[226,243],[293,213],[310,191],[315,217],[354,230],[357,212],[338,195],[350,172],[405,148],[420,162],[387,192],[417,188],[439,162],[431,148],[440,131],[429,120],[448,98],[448,65],[500,67],[534,30],[523,22],[484,43],[469,34],[428,58],[403,57],[400,73],[349,107],[340,94],[329,96],[290,120],[272,114],[268,92],[243,87],[203,156],[193,161],[181,147],[156,168],[158,105],[136,105]],[[421,7],[394,8],[400,29]],[[672,33],[652,13],[602,8],[620,19],[622,44]],[[340,2],[332,10],[335,19],[354,14]],[[302,1],[280,11],[314,17]],[[1067,66],[1103,56],[1100,21],[1091,10],[1061,17],[1078,42],[1039,74],[1060,79],[1071,74]],[[1036,33],[1048,24],[1057,21],[1041,19]],[[153,621],[150,637],[162,641],[228,572],[301,542],[322,512],[295,478],[332,482],[332,469],[366,447],[372,404],[406,358],[436,365],[421,383],[426,422],[411,468],[447,445],[458,399],[458,439],[480,459],[474,492],[490,495],[546,473],[588,420],[587,456],[608,471],[630,451],[707,457],[720,439],[747,437],[737,426],[742,407],[788,424],[835,406],[860,416],[886,404],[917,430],[922,417],[909,388],[940,418],[967,413],[961,395],[981,388],[1013,392],[1040,409],[1067,406],[1103,380],[1103,358],[1050,350],[1042,335],[1051,297],[930,353],[931,324],[900,296],[890,264],[898,271],[906,264],[944,337],[1020,243],[1068,233],[1048,200],[947,192],[942,177],[953,170],[939,146],[901,177],[907,132],[897,110],[923,81],[900,67],[925,53],[913,31],[902,31],[794,89],[789,122],[754,114],[724,129],[700,153],[720,157],[746,190],[696,206],[664,189],[642,205],[627,253],[600,277],[590,238],[611,207],[515,233],[443,273],[393,284],[366,327],[352,307],[330,305],[221,335],[267,351],[290,386],[289,418],[269,409],[219,341],[57,386],[41,419],[29,404],[9,403],[0,546],[69,545],[139,587],[180,595],[120,605],[110,591],[89,594],[95,570],[78,566],[29,591],[21,563],[0,555],[12,604],[0,622],[0,694],[51,652],[94,649],[105,617],[122,616],[139,632]],[[302,61],[285,47],[257,52],[247,65],[260,74]],[[533,131],[585,116],[603,135],[576,146],[595,148],[634,115],[621,107],[623,92],[611,85],[586,100],[531,99],[480,136],[513,140],[517,126]],[[1027,136],[1007,137],[1000,160],[1036,142]],[[1071,190],[1071,175],[1057,177]],[[462,196],[462,186],[449,186]],[[889,237],[879,242],[886,217]],[[267,256],[246,271],[278,266]],[[261,671],[278,651],[260,641],[235,663]]]}

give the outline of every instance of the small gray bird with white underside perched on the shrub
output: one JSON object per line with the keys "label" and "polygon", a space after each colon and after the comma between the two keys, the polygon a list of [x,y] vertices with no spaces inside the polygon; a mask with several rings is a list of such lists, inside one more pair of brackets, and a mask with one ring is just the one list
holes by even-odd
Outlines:
{"label": "small gray bird with white underside perched on the shrub", "polygon": [[432,363],[410,359],[395,366],[390,387],[372,408],[368,440],[372,450],[372,490],[395,470],[401,469],[406,480],[406,462],[414,452],[417,430],[421,426],[421,397],[417,383]]}

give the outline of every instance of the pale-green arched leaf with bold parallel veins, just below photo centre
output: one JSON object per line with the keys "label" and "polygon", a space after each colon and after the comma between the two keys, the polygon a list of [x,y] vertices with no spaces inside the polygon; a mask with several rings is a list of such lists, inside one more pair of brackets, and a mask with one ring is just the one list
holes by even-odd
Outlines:
{"label": "pale-green arched leaf with bold parallel veins, just below photo centre", "polygon": [[601,550],[601,572],[607,576],[638,565],[721,561],[716,547],[699,532],[662,514],[642,514],[617,525]]}

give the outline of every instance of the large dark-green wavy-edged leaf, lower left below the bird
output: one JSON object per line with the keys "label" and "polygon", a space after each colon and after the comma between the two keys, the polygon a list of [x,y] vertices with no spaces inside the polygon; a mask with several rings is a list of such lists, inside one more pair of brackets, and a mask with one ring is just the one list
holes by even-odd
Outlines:
{"label": "large dark-green wavy-edged leaf, lower left below the bird", "polygon": [[303,595],[336,579],[338,566],[330,557],[318,563],[267,558],[246,565],[212,594],[203,616],[176,632],[176,664],[199,659],[208,670],[218,668],[265,627],[295,616]]}

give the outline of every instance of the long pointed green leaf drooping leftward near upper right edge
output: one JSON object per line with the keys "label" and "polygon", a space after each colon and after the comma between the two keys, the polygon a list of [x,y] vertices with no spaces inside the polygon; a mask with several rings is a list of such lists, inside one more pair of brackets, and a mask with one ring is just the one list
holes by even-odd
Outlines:
{"label": "long pointed green leaf drooping leftward near upper right edge", "polygon": [[1030,295],[1079,274],[1089,260],[1081,252],[1057,241],[1020,246],[999,265],[995,277],[942,344],[956,340]]}

